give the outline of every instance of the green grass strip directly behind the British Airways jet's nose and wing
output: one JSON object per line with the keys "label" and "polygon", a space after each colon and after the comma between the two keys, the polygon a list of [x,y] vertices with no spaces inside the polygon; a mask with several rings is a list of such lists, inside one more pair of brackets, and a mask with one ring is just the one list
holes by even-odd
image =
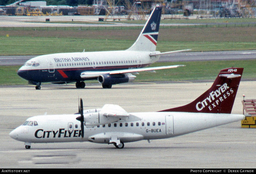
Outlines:
{"label": "green grass strip directly behind the British Airways jet's nose and wing", "polygon": [[[219,71],[227,67],[243,67],[242,79],[256,80],[256,60],[159,62],[151,66],[186,65],[185,67],[157,70],[156,73],[140,72],[135,82],[214,80]],[[20,66],[0,66],[0,85],[26,85],[28,82],[17,75]],[[92,81],[97,83],[97,81]],[[86,82],[88,83],[88,82]]]}

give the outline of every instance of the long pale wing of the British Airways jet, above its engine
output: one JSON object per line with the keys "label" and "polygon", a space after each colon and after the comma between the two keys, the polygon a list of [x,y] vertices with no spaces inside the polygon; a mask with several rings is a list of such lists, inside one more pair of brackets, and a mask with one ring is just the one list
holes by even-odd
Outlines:
{"label": "long pale wing of the British Airways jet, above its engine", "polygon": [[123,70],[114,70],[114,71],[87,71],[81,73],[81,78],[93,78],[98,77],[102,74],[123,74],[123,73],[133,73],[140,71],[154,71],[158,69],[169,69],[169,68],[177,68],[185,65],[170,65],[170,66],[159,66],[159,67],[147,67],[147,68],[136,68],[136,69],[123,69]]}

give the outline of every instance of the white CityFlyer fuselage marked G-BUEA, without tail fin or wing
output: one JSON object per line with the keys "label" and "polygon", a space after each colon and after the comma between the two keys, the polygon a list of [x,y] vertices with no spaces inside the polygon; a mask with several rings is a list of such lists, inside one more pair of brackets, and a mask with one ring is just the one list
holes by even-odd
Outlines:
{"label": "white CityFlyer fuselage marked G-BUEA, without tail fin or wing", "polygon": [[78,114],[35,116],[27,119],[30,124],[17,127],[10,136],[25,143],[90,141],[109,144],[114,138],[125,143],[175,137],[244,119],[244,115],[238,114],[189,112],[143,112],[130,115],[140,120],[130,121],[133,119],[128,118],[105,125],[85,126],[83,138],[80,121],[76,120]]}

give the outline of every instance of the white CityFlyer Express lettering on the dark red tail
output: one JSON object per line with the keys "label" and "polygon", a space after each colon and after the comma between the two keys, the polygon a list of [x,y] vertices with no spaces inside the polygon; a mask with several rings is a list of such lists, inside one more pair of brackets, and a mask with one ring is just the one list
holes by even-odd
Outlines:
{"label": "white CityFlyer Express lettering on the dark red tail", "polygon": [[211,91],[209,97],[196,103],[196,109],[201,111],[208,106],[209,111],[217,107],[222,101],[227,99],[231,94],[233,94],[233,89],[229,88],[227,83],[221,85],[215,91]]}

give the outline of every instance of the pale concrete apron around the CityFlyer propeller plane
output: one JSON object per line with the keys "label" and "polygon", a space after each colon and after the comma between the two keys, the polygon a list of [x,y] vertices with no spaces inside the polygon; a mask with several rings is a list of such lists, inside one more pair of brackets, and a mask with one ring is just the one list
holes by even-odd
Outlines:
{"label": "pale concrete apron around the CityFlyer propeller plane", "polygon": [[[255,168],[255,129],[242,129],[234,122],[175,138],[113,145],[84,143],[32,144],[9,137],[9,132],[28,117],[71,114],[84,109],[117,104],[127,112],[158,111],[185,105],[211,86],[203,83],[143,83],[85,89],[73,85],[0,87],[1,168]],[[241,81],[232,113],[241,114],[243,99],[256,99],[255,81]],[[182,115],[181,115],[182,117]]]}

